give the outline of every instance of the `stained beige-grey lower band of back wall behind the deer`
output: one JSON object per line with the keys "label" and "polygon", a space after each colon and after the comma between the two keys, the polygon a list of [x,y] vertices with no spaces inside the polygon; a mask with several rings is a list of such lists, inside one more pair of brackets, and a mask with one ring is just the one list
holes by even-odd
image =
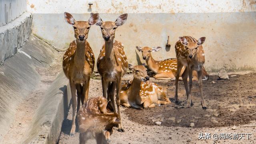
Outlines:
{"label": "stained beige-grey lower band of back wall behind the deer", "polygon": [[[100,16],[103,21],[114,21],[119,14]],[[64,21],[63,14],[34,14],[33,17],[33,32],[58,48],[67,48],[74,40],[74,30]],[[174,44],[179,36],[206,36],[203,46],[207,70],[255,70],[255,17],[256,12],[128,14],[126,23],[116,30],[115,39],[124,44],[129,63],[137,64],[135,46],[162,46],[162,50],[153,54],[160,60],[175,57]],[[74,14],[74,18],[88,20],[89,14]],[[170,36],[170,51],[165,49],[167,36]],[[88,42],[98,56],[104,44],[98,26],[90,28]]]}

